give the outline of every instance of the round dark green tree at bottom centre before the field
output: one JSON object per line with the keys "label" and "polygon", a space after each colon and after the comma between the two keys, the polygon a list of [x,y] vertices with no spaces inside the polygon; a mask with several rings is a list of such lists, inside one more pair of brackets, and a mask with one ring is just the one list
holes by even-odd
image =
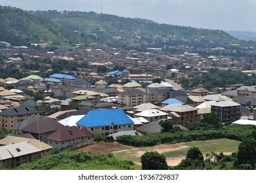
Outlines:
{"label": "round dark green tree at bottom centre before the field", "polygon": [[167,170],[168,165],[165,157],[156,151],[145,152],[140,157],[142,163],[142,170]]}

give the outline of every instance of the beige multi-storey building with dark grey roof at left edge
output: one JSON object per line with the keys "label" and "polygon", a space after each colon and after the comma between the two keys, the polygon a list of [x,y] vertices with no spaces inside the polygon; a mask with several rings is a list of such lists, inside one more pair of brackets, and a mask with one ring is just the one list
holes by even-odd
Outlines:
{"label": "beige multi-storey building with dark grey roof at left edge", "polygon": [[13,126],[28,118],[38,116],[39,112],[31,107],[10,107],[0,112],[1,128],[13,129]]}

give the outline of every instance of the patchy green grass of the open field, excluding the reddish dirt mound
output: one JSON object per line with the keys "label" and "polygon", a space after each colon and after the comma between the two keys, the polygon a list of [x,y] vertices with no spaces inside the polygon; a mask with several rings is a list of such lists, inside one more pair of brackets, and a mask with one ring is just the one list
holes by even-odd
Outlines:
{"label": "patchy green grass of the open field, excluding the reddish dirt mound", "polygon": [[[165,158],[177,158],[177,157],[184,157],[186,156],[186,152],[189,148],[195,146],[198,147],[203,154],[207,152],[236,152],[238,150],[238,145],[240,141],[234,141],[230,139],[216,139],[210,141],[194,141],[194,142],[184,142],[181,143],[182,146],[187,146],[186,148],[182,148],[180,150],[170,151],[170,152],[163,152],[163,156]],[[134,169],[140,169],[140,156],[146,152],[154,150],[154,147],[148,148],[133,148],[131,150],[125,150],[122,152],[114,152],[114,156],[117,159],[125,159],[131,160],[134,163],[137,163]]]}

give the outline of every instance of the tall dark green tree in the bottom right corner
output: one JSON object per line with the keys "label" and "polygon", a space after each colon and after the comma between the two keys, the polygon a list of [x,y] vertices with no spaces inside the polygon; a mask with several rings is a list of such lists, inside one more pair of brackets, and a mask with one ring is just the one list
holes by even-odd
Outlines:
{"label": "tall dark green tree in the bottom right corner", "polygon": [[252,169],[256,167],[256,141],[255,139],[245,139],[238,146],[237,154],[238,166],[243,164],[251,165]]}

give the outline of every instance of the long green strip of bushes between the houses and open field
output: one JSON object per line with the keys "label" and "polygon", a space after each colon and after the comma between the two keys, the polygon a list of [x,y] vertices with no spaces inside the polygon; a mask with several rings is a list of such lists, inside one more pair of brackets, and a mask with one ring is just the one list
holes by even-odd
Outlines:
{"label": "long green strip of bushes between the houses and open field", "polygon": [[156,144],[174,144],[177,142],[205,141],[211,139],[234,139],[242,141],[255,130],[254,125],[224,125],[221,129],[181,131],[177,133],[147,133],[144,136],[123,135],[117,142],[131,146],[155,146]]}

